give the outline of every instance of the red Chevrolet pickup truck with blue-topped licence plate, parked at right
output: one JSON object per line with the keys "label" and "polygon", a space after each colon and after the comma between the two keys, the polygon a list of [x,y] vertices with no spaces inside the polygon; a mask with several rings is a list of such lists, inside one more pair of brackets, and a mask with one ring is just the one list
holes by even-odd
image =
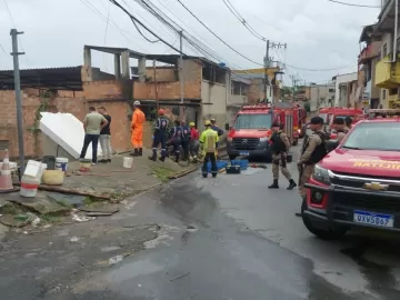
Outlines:
{"label": "red Chevrolet pickup truck with blue-topped licence plate, parked at right", "polygon": [[314,169],[307,229],[336,239],[354,227],[400,232],[400,110],[370,110]]}

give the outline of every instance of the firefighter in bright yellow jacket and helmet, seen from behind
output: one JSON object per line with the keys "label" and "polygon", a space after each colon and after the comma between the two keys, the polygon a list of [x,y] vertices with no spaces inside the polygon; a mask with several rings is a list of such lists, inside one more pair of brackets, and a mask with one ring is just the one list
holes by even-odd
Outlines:
{"label": "firefighter in bright yellow jacket and helmet, seen from behind", "polygon": [[204,152],[204,162],[202,167],[202,177],[207,178],[208,170],[207,164],[209,160],[211,160],[211,174],[213,178],[217,177],[218,173],[218,167],[217,167],[217,143],[219,141],[218,133],[213,129],[211,129],[211,122],[207,120],[204,122],[206,130],[201,132],[200,136],[200,147],[202,148],[202,151]]}

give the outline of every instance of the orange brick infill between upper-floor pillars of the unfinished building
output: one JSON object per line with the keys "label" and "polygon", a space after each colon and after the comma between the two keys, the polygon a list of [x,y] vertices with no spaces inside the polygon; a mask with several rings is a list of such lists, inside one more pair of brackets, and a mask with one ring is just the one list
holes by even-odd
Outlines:
{"label": "orange brick infill between upper-floor pillars of the unfinished building", "polygon": [[[158,82],[158,98],[160,100],[180,99],[180,83]],[[184,98],[200,99],[201,84],[198,82],[184,82]],[[133,82],[133,99],[156,99],[154,82]]]}

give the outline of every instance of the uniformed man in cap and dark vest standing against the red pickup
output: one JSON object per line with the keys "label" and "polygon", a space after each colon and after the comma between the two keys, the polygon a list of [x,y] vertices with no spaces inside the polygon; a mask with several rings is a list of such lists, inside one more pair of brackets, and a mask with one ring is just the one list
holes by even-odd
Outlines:
{"label": "uniformed man in cap and dark vest standing against the red pickup", "polygon": [[[309,181],[316,164],[328,153],[324,142],[329,140],[329,134],[323,131],[323,119],[321,117],[311,118],[310,128],[313,133],[307,139],[298,162],[299,192],[303,200],[306,199],[304,184]],[[296,216],[301,217],[301,213],[296,213]]]}

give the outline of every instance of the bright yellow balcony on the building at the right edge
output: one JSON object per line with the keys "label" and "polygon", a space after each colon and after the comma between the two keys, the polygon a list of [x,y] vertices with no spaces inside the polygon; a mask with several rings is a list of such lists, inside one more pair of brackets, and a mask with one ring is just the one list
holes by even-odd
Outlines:
{"label": "bright yellow balcony on the building at the right edge", "polygon": [[391,54],[382,58],[376,67],[376,86],[381,89],[396,89],[400,84],[400,56],[391,62]]}

